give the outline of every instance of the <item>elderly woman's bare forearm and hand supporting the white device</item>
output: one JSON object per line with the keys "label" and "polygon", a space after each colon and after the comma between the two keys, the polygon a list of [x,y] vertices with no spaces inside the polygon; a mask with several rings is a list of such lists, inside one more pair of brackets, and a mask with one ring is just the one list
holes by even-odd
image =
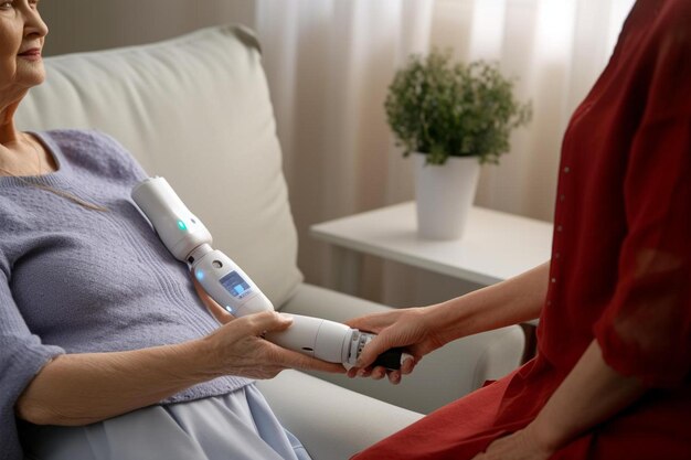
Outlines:
{"label": "elderly woman's bare forearm and hand supporting the white device", "polygon": [[290,323],[279,313],[257,313],[180,344],[60,355],[24,389],[15,411],[38,425],[86,425],[222,375],[270,378],[288,367],[342,371],[340,364],[281,349],[261,336]]}

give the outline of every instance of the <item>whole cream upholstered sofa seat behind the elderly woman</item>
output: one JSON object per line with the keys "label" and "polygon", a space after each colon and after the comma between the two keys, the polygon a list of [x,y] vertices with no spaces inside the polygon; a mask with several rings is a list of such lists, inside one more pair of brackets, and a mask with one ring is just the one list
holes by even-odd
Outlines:
{"label": "whole cream upholstered sofa seat behind the elderly woman", "polygon": [[[20,129],[97,128],[163,175],[277,309],[334,320],[385,309],[302,282],[297,237],[259,45],[237,26],[46,60],[47,82],[17,114]],[[425,359],[400,387],[285,372],[258,384],[316,460],[344,459],[518,365],[508,328]],[[350,385],[363,396],[342,386]],[[381,400],[379,400],[381,399]],[[397,406],[384,403],[390,400]],[[413,408],[408,410],[402,407]]]}

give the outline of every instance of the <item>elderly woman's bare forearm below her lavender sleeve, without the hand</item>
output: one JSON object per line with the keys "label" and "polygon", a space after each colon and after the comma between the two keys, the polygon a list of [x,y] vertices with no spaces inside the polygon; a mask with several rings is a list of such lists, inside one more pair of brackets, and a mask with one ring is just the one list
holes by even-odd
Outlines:
{"label": "elderly woman's bare forearm below her lavender sleeve, without the hand", "polygon": [[17,414],[38,425],[86,425],[156,404],[217,376],[205,371],[204,347],[198,340],[57,356],[23,392]]}

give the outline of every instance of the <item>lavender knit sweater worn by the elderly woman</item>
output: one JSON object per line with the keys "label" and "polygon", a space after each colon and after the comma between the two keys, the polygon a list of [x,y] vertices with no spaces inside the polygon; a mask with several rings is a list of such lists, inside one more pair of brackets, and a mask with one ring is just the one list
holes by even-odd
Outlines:
{"label": "lavender knit sweater worn by the elderly woman", "polygon": [[[11,460],[22,458],[14,404],[53,356],[179,343],[217,327],[187,267],[130,200],[145,173],[129,153],[95,131],[38,136],[59,170],[31,180],[109,212],[0,176],[0,459]],[[216,378],[161,403],[220,395],[247,383]]]}

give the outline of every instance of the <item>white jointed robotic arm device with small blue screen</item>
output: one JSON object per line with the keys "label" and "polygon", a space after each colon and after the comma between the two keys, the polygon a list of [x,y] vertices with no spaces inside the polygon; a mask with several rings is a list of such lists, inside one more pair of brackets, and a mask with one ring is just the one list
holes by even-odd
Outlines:
{"label": "white jointed robotic arm device with small blue screen", "polygon": [[[206,293],[235,317],[272,311],[274,306],[228,256],[211,247],[212,237],[163,178],[149,178],[135,186],[132,199],[149,218],[172,255],[189,264]],[[346,367],[355,364],[374,335],[334,321],[293,314],[286,331],[266,334],[283,347]],[[375,365],[398,368],[407,354],[393,349]]]}

